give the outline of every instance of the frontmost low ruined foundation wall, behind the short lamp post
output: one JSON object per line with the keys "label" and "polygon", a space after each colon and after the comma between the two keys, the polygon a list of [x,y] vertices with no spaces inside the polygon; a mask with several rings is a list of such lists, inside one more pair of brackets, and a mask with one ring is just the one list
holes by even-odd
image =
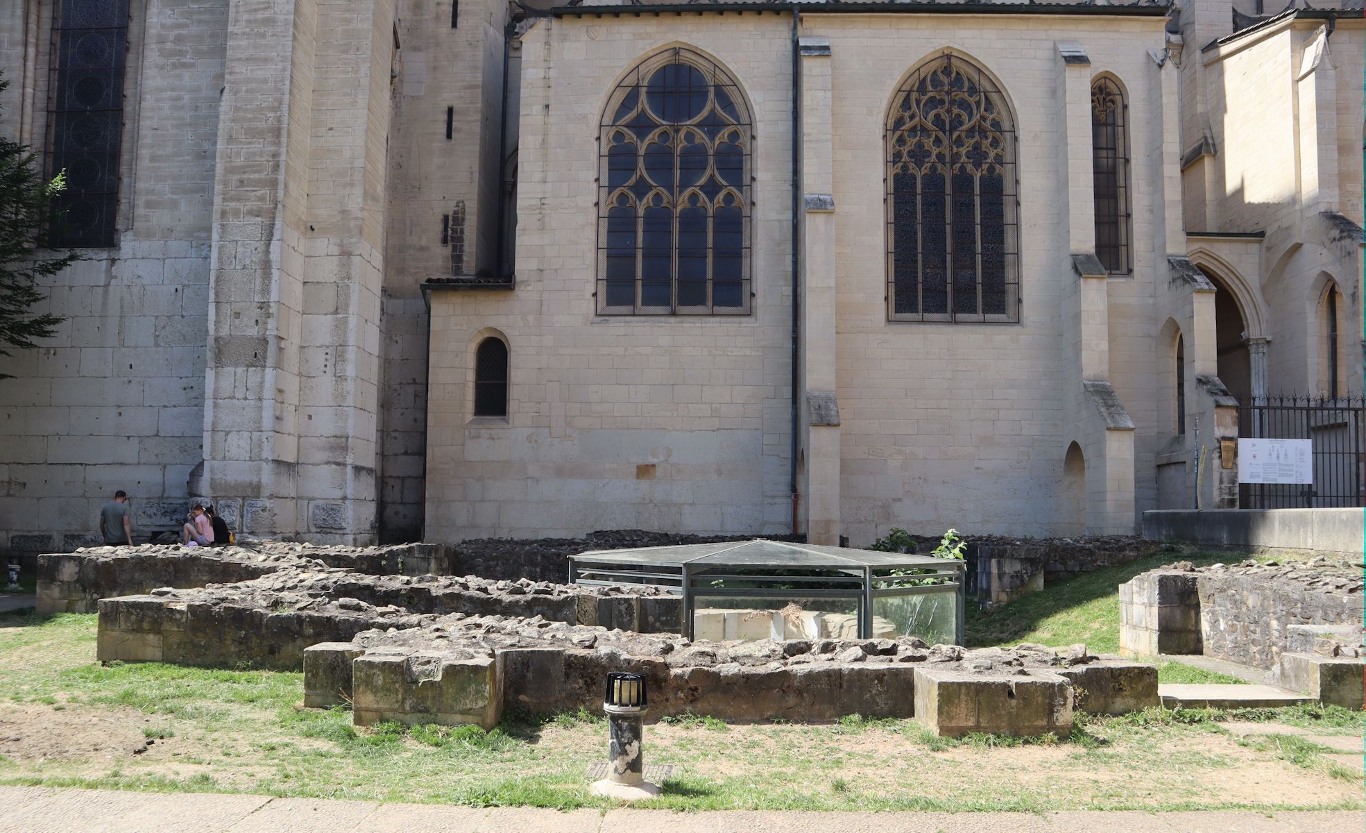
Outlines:
{"label": "frontmost low ruined foundation wall, behind the short lamp post", "polygon": [[646,677],[652,717],[828,721],[862,714],[917,717],[944,735],[1042,735],[1070,730],[1083,685],[1086,710],[1157,704],[1153,666],[1100,661],[1078,648],[1068,659],[1038,646],[964,651],[914,639],[710,643],[452,616],[310,647],[305,704],[350,699],[358,724],[489,728],[507,709],[597,710],[612,670]]}

